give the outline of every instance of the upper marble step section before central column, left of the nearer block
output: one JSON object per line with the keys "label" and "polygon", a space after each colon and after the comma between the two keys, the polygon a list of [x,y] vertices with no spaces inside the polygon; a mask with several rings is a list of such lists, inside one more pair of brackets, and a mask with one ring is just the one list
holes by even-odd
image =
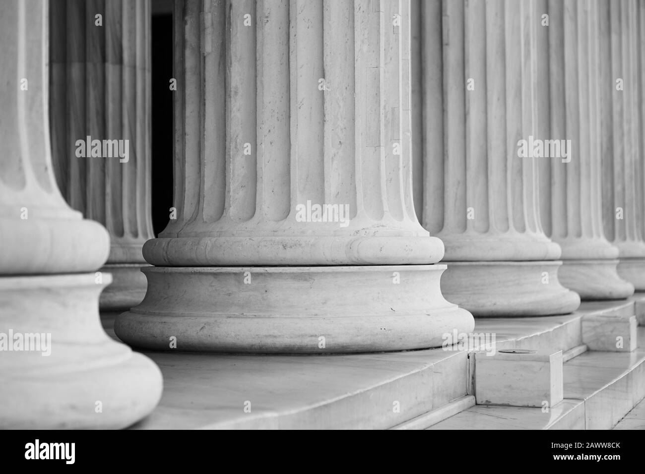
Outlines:
{"label": "upper marble step section before central column, left of the nearer block", "polygon": [[161,368],[164,392],[134,427],[142,429],[390,428],[465,395],[468,373],[466,353],[441,350],[146,354]]}

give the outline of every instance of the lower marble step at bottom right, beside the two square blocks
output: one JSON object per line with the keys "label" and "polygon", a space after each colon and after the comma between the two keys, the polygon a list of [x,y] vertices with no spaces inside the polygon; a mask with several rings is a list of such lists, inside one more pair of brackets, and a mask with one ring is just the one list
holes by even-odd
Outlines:
{"label": "lower marble step at bottom right, beside the two square blocks", "polygon": [[541,408],[476,405],[430,430],[608,430],[645,397],[645,328],[631,353],[588,351],[564,364],[564,400]]}

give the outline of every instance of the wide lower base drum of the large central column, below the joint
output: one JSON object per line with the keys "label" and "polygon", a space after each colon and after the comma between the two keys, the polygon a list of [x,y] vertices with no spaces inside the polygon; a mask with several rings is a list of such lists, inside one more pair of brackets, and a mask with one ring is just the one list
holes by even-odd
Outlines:
{"label": "wide lower base drum of the large central column, below the joint", "polygon": [[[117,317],[155,350],[346,353],[441,346],[472,315],[441,295],[445,265],[144,268],[144,301]],[[173,346],[173,341],[176,342]]]}

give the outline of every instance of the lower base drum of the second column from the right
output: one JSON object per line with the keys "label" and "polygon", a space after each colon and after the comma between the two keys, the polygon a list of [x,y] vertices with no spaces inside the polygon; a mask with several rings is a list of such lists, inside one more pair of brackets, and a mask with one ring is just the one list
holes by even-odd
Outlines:
{"label": "lower base drum of the second column from the right", "polygon": [[582,300],[628,298],[634,286],[620,278],[617,265],[618,260],[563,260],[558,279]]}

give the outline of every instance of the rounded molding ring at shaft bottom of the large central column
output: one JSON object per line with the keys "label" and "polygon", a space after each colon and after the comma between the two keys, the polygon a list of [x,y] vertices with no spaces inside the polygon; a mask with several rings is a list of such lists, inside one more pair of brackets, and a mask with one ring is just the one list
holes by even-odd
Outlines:
{"label": "rounded molding ring at shaft bottom of the large central column", "polygon": [[443,252],[437,237],[405,235],[165,237],[143,246],[150,264],[186,267],[433,264]]}

